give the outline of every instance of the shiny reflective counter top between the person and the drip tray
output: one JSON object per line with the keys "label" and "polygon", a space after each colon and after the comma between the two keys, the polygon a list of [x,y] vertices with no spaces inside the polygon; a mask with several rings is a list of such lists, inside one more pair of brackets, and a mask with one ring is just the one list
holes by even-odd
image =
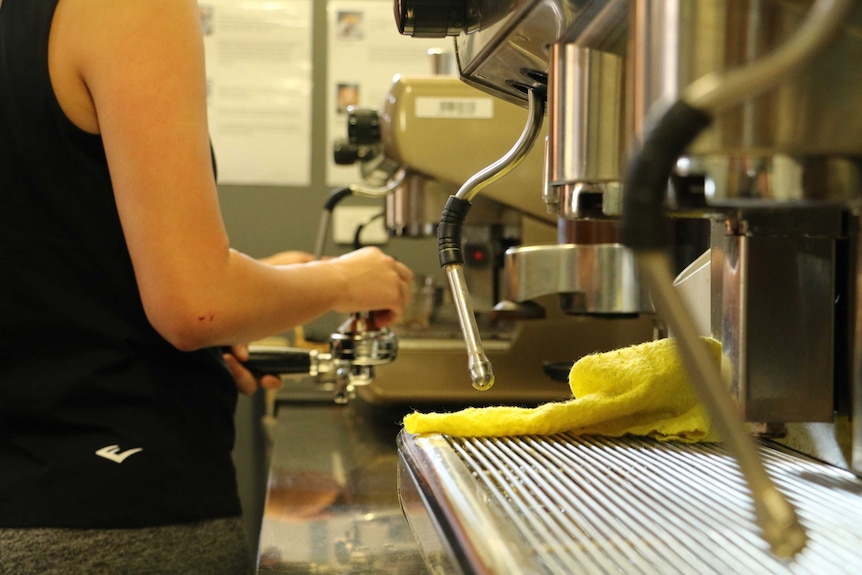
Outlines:
{"label": "shiny reflective counter top between the person and the drip tray", "polygon": [[277,407],[258,573],[427,573],[397,493],[406,411],[361,400]]}

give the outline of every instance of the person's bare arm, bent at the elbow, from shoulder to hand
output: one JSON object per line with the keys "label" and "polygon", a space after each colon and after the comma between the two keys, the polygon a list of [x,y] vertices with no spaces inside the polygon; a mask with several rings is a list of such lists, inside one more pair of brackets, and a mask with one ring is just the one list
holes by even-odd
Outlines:
{"label": "person's bare arm, bent at the elbow, from shoulder to hand", "polygon": [[379,250],[270,265],[230,249],[194,0],[67,0],[60,8],[55,90],[61,104],[64,94],[72,102],[64,109],[73,121],[80,105],[82,127],[92,107],[144,308],[166,339],[191,350],[260,339],[328,310],[390,310],[384,321],[403,311],[412,274]]}

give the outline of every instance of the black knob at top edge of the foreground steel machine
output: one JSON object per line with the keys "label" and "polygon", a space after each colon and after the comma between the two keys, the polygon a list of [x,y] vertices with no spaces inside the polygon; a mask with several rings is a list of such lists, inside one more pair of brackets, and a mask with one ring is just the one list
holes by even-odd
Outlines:
{"label": "black knob at top edge of the foreground steel machine", "polygon": [[467,0],[395,0],[398,32],[413,38],[458,36],[468,28]]}

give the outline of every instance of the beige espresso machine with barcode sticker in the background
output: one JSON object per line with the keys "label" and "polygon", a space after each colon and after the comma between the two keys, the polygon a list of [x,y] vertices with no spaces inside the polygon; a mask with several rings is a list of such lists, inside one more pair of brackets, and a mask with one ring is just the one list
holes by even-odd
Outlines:
{"label": "beige espresso machine with barcode sticker in the background", "polygon": [[[348,116],[347,138],[335,143],[334,152],[338,163],[357,164],[363,174],[362,183],[349,188],[380,198],[386,230],[409,242],[438,233],[446,198],[506,154],[528,113],[456,77],[429,74],[396,76],[378,109],[350,109]],[[540,139],[545,135],[545,128],[539,130]],[[542,189],[543,158],[543,147],[534,146],[505,177],[485,186],[459,242],[472,290],[471,316],[503,377],[480,396],[470,387],[456,306],[438,274],[421,278],[414,295],[412,307],[424,306],[424,317],[408,310],[406,321],[393,327],[397,361],[356,387],[365,401],[534,405],[565,399],[570,395],[565,376],[575,359],[652,338],[654,314],[639,292],[625,298],[608,294],[593,304],[604,305],[606,313],[577,317],[560,309],[557,289],[534,288],[528,298],[519,298],[523,301],[511,299],[513,290],[523,288],[506,280],[507,250],[555,244],[559,233],[556,214],[535,201]],[[373,186],[380,192],[369,189]],[[433,261],[433,252],[428,257]],[[583,279],[594,264],[581,257]],[[631,259],[626,263],[631,273]],[[548,267],[549,272],[559,269]],[[605,294],[594,282],[566,288],[564,297],[574,299],[576,287],[579,301]]]}

